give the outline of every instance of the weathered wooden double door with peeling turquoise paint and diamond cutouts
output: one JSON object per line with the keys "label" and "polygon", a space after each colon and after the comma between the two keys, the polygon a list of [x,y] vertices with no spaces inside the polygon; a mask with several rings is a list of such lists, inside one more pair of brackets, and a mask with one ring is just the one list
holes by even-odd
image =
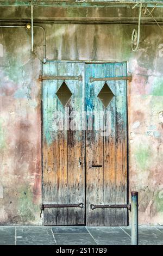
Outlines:
{"label": "weathered wooden double door with peeling turquoise paint and diamond cutouts", "polygon": [[[43,64],[44,225],[127,225],[126,63]],[[105,81],[106,80],[106,81]]]}

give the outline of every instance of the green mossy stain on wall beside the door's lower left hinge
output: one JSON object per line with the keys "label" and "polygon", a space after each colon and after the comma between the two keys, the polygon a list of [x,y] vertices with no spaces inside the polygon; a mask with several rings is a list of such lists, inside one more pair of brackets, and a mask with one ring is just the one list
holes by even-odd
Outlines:
{"label": "green mossy stain on wall beside the door's lower left hinge", "polygon": [[34,221],[35,212],[39,212],[39,206],[33,203],[33,192],[29,186],[23,186],[18,190],[18,212],[22,222]]}

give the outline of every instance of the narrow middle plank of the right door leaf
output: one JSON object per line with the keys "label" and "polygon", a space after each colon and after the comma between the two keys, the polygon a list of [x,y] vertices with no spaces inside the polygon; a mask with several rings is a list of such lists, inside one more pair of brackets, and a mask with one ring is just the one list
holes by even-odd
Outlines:
{"label": "narrow middle plank of the right door leaf", "polygon": [[[105,77],[114,77],[115,76],[115,64],[106,63],[104,64],[104,75]],[[108,86],[112,90],[112,93],[116,95],[115,82],[109,81]],[[109,106],[106,108],[106,111],[110,113],[110,123],[105,125],[110,125],[111,134],[104,137],[104,204],[115,204],[116,203],[116,96],[110,102]],[[112,226],[116,222],[116,211],[115,209],[105,209],[104,214],[104,225]]]}

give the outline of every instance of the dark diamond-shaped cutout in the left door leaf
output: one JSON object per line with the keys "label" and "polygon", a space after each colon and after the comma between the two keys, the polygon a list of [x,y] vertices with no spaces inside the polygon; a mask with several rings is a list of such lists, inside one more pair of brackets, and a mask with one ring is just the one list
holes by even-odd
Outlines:
{"label": "dark diamond-shaped cutout in the left door leaf", "polygon": [[56,95],[58,96],[58,99],[60,100],[62,105],[65,107],[66,103],[68,102],[68,100],[70,100],[71,95],[72,95],[72,93],[71,93],[70,89],[67,87],[67,84],[65,83],[65,81],[62,82]]}

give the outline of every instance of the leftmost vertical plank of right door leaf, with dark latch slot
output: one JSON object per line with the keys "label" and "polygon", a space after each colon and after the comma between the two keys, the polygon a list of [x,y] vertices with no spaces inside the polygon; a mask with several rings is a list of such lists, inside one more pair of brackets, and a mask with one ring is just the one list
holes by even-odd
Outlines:
{"label": "leftmost vertical plank of right door leaf, with dark latch slot", "polygon": [[[97,98],[103,87],[103,82],[90,83],[90,77],[101,77],[104,69],[99,64],[87,64],[86,67],[86,111],[87,122],[92,117],[91,112],[97,112],[93,118],[93,130],[86,131],[86,224],[104,225],[104,209],[91,210],[91,204],[104,204],[104,158],[103,158],[103,137],[101,132],[96,130],[99,123],[99,112],[103,110],[102,103]],[[90,113],[89,113],[90,112]],[[97,120],[96,120],[97,119]],[[92,165],[102,167],[92,167]]]}

